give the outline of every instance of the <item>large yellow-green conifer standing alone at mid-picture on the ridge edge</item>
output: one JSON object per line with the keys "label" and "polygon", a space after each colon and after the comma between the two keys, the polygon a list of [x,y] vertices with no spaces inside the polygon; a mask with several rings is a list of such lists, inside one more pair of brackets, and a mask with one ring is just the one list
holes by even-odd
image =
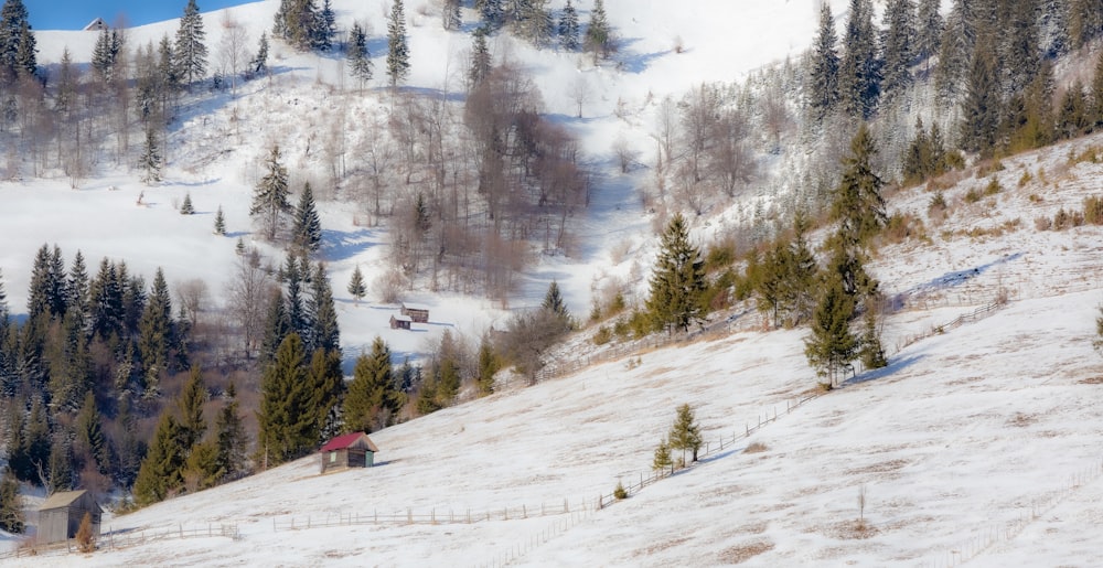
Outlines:
{"label": "large yellow-green conifer standing alone at mid-picture on the ridge edge", "polygon": [[700,297],[705,290],[700,250],[689,243],[689,228],[675,214],[662,237],[662,250],[651,277],[647,311],[658,328],[689,330],[702,318]]}

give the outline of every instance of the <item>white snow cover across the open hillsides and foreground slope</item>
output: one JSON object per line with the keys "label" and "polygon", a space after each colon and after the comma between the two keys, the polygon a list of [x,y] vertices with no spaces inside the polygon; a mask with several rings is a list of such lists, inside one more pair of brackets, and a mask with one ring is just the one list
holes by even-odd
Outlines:
{"label": "white snow cover across the open hillsides and foreground slope", "polygon": [[[387,4],[334,1],[340,22],[371,18],[377,36]],[[548,111],[578,133],[601,178],[579,219],[580,254],[542,259],[511,307],[536,303],[556,278],[581,314],[603,278],[646,274],[655,248],[638,193],[647,174],[620,174],[612,140],[623,136],[641,152],[651,151],[657,99],[799,54],[815,25],[812,4],[711,1],[679,10],[656,0],[608,0],[625,39],[619,68],[593,67],[578,55],[537,53],[507,40],[494,46],[495,57],[534,69]],[[267,0],[227,12],[249,22],[256,37],[277,6]],[[842,13],[845,2],[832,7]],[[437,19],[416,6],[407,13],[411,87],[458,90],[453,75],[462,65],[456,44],[465,36],[440,30]],[[219,15],[204,18],[216,42]],[[165,22],[133,34],[156,40],[172,30],[174,22]],[[66,44],[74,53],[90,53],[93,41],[79,32],[44,32],[40,60],[56,62]],[[77,47],[79,42],[86,49]],[[172,133],[167,180],[157,187],[144,187],[125,170],[76,189],[62,178],[0,184],[7,229],[0,267],[14,311],[25,304],[31,260],[43,243],[58,244],[66,258],[77,249],[93,261],[125,258],[146,275],[161,266],[170,283],[200,278],[213,301],[222,302],[237,259],[236,238],[251,240],[247,210],[261,156],[270,141],[286,140],[289,154],[309,167],[308,141],[290,135],[298,120],[310,119],[300,116],[303,109],[320,112],[336,104],[330,93],[341,84],[340,61],[290,52],[277,57],[278,89],[253,82],[236,97],[190,111]],[[569,96],[579,76],[593,93],[580,119]],[[365,112],[386,111],[382,93],[368,99]],[[871,268],[888,293],[907,299],[886,322],[890,366],[859,373],[792,411],[791,405],[817,394],[803,354],[804,332],[739,326],[743,331],[641,352],[534,387],[504,385],[488,398],[374,432],[381,453],[373,469],[320,476],[317,458],[303,459],[137,513],[105,516],[104,532],[117,537],[118,549],[4,561],[1093,565],[1103,555],[1096,536],[1103,525],[1103,358],[1091,347],[1095,308],[1103,300],[1103,234],[1099,227],[1035,227],[1036,217],[1078,207],[1097,191],[1094,180],[1103,176],[1103,167],[1068,160],[1093,143],[1103,146],[1103,138],[1004,160],[996,173],[1003,191],[975,203],[965,194],[989,178],[954,180],[944,190],[950,204],[944,221],[928,218],[930,192],[893,195],[890,212],[925,219],[928,240],[890,245]],[[1030,180],[1020,184],[1028,171]],[[188,192],[197,215],[175,211]],[[139,207],[142,193],[146,206]],[[228,237],[212,234],[219,205]],[[506,311],[488,301],[419,292],[410,300],[430,306],[432,324],[413,333],[389,330],[394,306],[371,298],[357,306],[344,292],[356,265],[371,271],[382,264],[385,234],[356,223],[353,204],[323,201],[320,207],[346,356],[375,335],[399,354],[417,354],[443,329],[476,336],[504,318]],[[259,240],[256,246],[271,253]],[[1009,301],[977,322],[934,333],[997,297]],[[919,336],[925,339],[914,341]],[[608,496],[619,481],[630,485],[651,473],[652,450],[682,403],[696,408],[710,446],[768,424],[730,450],[726,446],[623,502],[602,501],[607,506],[597,508],[599,496]],[[366,522],[376,515],[384,522]],[[403,516],[422,522],[404,523]],[[356,523],[341,526],[341,519]],[[311,526],[303,528],[307,523]],[[236,527],[238,537],[121,546],[128,536],[207,527],[218,533],[223,525]],[[17,545],[14,538],[7,543]]]}

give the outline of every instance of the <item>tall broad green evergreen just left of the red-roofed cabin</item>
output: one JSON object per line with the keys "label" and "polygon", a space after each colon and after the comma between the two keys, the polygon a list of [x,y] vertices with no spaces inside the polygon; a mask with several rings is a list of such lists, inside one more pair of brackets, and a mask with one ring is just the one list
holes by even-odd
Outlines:
{"label": "tall broad green evergreen just left of the red-roofed cabin", "polygon": [[261,375],[257,462],[264,468],[300,458],[318,442],[317,393],[307,381],[306,356],[299,334],[291,333]]}

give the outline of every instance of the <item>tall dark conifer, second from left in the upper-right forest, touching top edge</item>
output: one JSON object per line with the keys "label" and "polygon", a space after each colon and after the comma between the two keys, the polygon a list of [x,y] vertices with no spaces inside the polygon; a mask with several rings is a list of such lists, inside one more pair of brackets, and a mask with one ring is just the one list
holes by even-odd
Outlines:
{"label": "tall dark conifer, second from left in the upper-right forest, touching top edge", "polygon": [[872,23],[871,0],[850,0],[850,14],[843,36],[843,60],[839,63],[838,93],[843,110],[856,118],[872,115],[880,96],[880,62],[877,60],[877,36]]}

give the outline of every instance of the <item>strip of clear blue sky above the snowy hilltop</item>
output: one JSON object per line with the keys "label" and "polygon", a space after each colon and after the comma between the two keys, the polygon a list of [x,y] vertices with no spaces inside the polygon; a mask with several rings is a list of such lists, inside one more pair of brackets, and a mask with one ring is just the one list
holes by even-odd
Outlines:
{"label": "strip of clear blue sky above the snowy hilltop", "polygon": [[[200,12],[250,0],[196,0]],[[180,18],[188,0],[23,0],[35,30],[81,30],[96,18],[115,24],[120,15],[129,25]]]}

